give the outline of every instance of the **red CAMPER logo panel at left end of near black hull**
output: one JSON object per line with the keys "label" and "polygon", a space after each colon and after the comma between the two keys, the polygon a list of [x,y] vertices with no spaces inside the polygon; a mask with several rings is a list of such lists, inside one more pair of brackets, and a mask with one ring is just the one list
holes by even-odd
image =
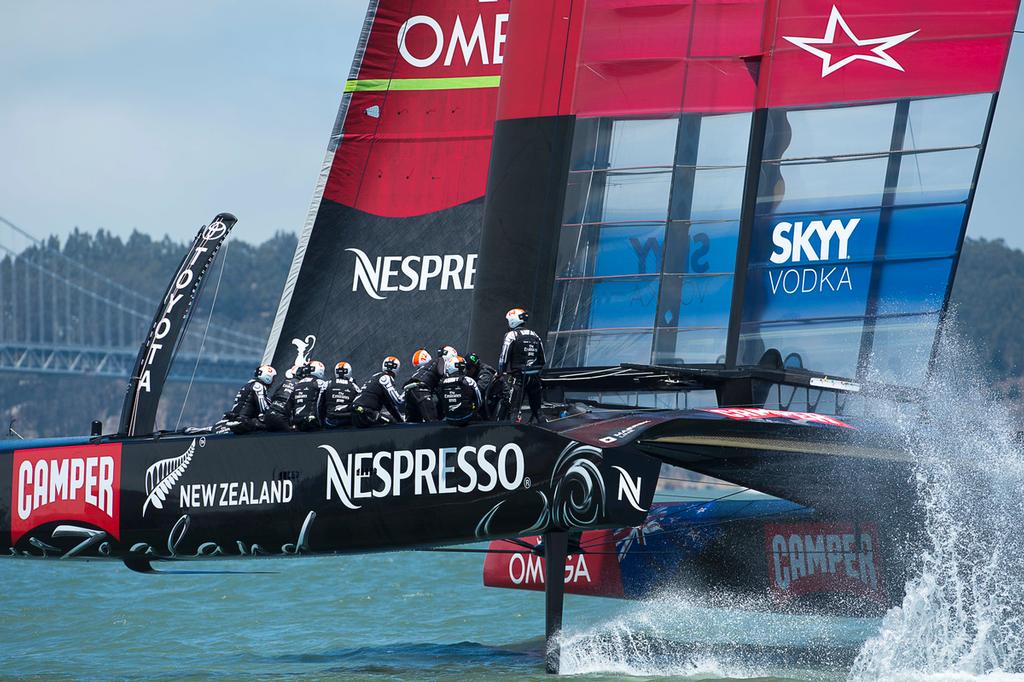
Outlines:
{"label": "red CAMPER logo panel at left end of near black hull", "polygon": [[121,443],[14,451],[11,542],[43,523],[121,535]]}

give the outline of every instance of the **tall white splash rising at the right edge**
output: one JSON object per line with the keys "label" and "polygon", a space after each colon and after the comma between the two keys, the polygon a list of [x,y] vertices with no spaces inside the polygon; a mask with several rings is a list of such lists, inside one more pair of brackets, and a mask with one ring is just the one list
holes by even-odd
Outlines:
{"label": "tall white splash rising at the right edge", "polygon": [[1024,462],[974,357],[945,330],[923,416],[900,420],[918,463],[920,565],[852,680],[1024,673]]}

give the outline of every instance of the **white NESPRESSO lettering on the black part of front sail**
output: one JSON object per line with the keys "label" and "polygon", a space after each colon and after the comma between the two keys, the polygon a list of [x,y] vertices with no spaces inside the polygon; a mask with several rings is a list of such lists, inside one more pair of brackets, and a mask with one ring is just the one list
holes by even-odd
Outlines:
{"label": "white NESPRESSO lettering on the black part of front sail", "polygon": [[377,256],[345,249],[355,257],[352,291],[383,301],[393,292],[463,290],[473,288],[476,254],[443,256]]}

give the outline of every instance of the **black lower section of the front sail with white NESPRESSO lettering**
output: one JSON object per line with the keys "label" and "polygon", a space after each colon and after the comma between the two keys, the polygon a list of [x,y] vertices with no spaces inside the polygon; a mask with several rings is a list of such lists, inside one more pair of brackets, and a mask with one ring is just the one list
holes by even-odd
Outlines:
{"label": "black lower section of the front sail with white NESPRESSO lettering", "polygon": [[[461,349],[467,334],[459,319],[468,315],[479,243],[478,231],[466,227],[479,224],[482,204],[480,199],[423,216],[385,218],[323,202],[297,284],[302,298],[283,328],[273,366],[293,367],[299,353],[332,364],[337,357],[352,363],[361,378],[376,372],[383,356],[404,361],[417,344]],[[337,225],[358,229],[338,240],[332,228]],[[362,257],[402,253],[411,244],[421,245],[422,255],[400,261]],[[412,276],[402,265],[414,268]],[[393,275],[385,278],[388,271]]]}

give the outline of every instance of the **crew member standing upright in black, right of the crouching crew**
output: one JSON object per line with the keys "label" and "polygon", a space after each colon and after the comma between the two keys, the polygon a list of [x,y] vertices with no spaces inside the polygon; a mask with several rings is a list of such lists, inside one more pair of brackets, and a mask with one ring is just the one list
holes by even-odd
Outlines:
{"label": "crew member standing upright in black, right of the crouching crew", "polygon": [[544,343],[541,337],[523,325],[529,314],[522,308],[512,308],[505,313],[509,332],[502,343],[498,358],[498,372],[504,376],[505,387],[498,406],[498,420],[519,421],[522,410],[522,394],[529,399],[531,422],[544,423],[541,415],[543,388],[541,370],[544,369]]}

